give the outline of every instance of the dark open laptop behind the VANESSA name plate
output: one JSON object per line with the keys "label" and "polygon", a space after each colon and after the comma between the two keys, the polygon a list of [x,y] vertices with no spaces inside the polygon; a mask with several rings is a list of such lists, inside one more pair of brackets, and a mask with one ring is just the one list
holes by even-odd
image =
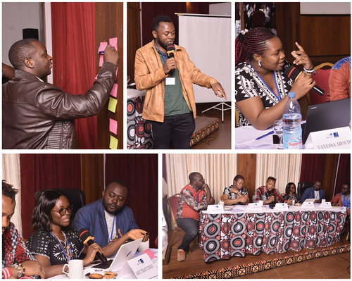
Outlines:
{"label": "dark open laptop behind the VANESSA name plate", "polygon": [[303,144],[306,144],[310,132],[348,127],[350,120],[351,98],[308,106],[306,126],[302,125]]}

